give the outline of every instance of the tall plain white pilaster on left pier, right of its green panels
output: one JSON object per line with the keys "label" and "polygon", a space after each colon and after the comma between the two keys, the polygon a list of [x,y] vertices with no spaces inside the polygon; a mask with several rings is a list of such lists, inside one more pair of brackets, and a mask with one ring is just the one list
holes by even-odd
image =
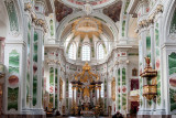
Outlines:
{"label": "tall plain white pilaster on left pier, right of its green panels", "polygon": [[36,106],[34,109],[34,112],[37,114],[45,114],[43,112],[43,106],[42,106],[42,69],[43,69],[43,57],[44,57],[44,37],[45,37],[45,28],[44,25],[41,25],[41,23],[45,23],[45,3],[44,1],[36,1],[35,6],[38,8],[36,12],[37,22],[35,22],[35,32],[37,33],[37,95],[36,95]]}

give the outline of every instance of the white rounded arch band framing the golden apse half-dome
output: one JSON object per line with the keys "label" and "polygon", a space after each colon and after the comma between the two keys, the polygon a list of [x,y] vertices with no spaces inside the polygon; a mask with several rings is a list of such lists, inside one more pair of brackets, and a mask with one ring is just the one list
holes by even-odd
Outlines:
{"label": "white rounded arch band framing the golden apse half-dome", "polygon": [[[61,22],[61,24],[57,26],[57,30],[56,30],[56,32],[57,32],[56,43],[58,43],[58,41],[61,40],[62,33],[64,32],[65,28],[67,25],[69,25],[70,23],[73,23],[76,19],[81,18],[81,15],[85,15],[85,12],[79,11],[77,13],[72,13],[67,18],[65,18],[65,20],[63,20]],[[114,22],[109,17],[107,17],[103,13],[96,12],[96,11],[94,13],[91,13],[91,17],[95,17],[96,19],[99,19],[106,25],[108,23],[109,24],[108,26],[109,26],[109,29],[111,30],[111,32],[113,34],[113,40],[114,41],[118,40],[119,30],[118,30],[117,25],[114,24]]]}

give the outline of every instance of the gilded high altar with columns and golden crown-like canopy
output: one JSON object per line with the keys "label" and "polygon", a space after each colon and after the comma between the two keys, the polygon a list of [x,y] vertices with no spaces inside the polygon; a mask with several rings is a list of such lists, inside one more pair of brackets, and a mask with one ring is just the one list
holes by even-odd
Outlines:
{"label": "gilded high altar with columns and golden crown-like canopy", "polygon": [[[91,67],[86,63],[82,72],[76,74],[73,85],[72,114],[100,114],[101,84],[98,74],[90,72]],[[78,95],[79,92],[79,95]],[[95,112],[94,112],[95,111]]]}

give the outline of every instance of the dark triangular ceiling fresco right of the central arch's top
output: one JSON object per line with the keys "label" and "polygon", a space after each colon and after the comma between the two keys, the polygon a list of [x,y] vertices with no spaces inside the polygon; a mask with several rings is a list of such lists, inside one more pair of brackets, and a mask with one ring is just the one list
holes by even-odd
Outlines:
{"label": "dark triangular ceiling fresco right of the central arch's top", "polygon": [[122,8],[122,2],[117,2],[106,9],[103,9],[103,13],[111,18],[114,22],[120,20],[120,12]]}

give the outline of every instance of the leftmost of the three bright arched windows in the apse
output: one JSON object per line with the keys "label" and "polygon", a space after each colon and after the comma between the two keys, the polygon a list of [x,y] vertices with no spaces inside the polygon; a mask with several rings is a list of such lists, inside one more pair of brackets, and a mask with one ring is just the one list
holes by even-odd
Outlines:
{"label": "leftmost of the three bright arched windows in the apse", "polygon": [[69,46],[68,57],[72,60],[76,60],[76,45],[74,43]]}

